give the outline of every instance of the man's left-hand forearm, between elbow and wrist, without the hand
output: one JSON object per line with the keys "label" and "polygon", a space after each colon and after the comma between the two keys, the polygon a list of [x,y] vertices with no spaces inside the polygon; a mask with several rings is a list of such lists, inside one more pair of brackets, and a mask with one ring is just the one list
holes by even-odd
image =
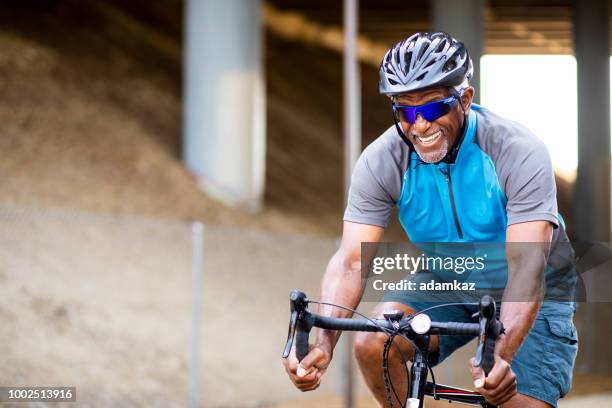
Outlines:
{"label": "man's left-hand forearm, between elbow and wrist, without the hand", "polygon": [[[364,289],[363,282],[361,279],[361,259],[359,257],[351,259],[338,252],[330,260],[323,276],[320,299],[326,303],[355,309],[361,301]],[[319,314],[333,317],[352,316],[352,312],[348,310],[328,305],[320,305]],[[333,350],[339,337],[339,331],[320,329],[317,335],[317,344]]]}

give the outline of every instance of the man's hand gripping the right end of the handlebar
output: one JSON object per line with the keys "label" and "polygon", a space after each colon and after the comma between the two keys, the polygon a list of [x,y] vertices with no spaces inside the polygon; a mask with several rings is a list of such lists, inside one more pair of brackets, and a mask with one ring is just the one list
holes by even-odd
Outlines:
{"label": "man's hand gripping the right end of the handlebar", "polygon": [[499,356],[495,356],[495,365],[488,377],[480,367],[474,367],[474,359],[470,359],[470,371],[476,391],[494,405],[507,402],[516,394],[516,375],[510,364]]}

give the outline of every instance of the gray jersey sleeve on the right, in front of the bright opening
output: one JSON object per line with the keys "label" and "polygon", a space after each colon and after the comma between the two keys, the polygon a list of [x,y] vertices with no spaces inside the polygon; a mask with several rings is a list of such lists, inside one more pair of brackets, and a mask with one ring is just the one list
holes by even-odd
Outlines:
{"label": "gray jersey sleeve on the right, in front of the bright opening", "polygon": [[559,226],[557,188],[546,146],[532,137],[511,146],[504,168],[508,225],[549,221]]}

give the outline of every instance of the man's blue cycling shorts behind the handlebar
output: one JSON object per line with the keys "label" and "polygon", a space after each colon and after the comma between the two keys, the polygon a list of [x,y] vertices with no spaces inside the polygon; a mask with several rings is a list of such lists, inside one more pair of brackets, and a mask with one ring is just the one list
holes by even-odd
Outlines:
{"label": "man's blue cycling shorts behind the handlebar", "polygon": [[[419,311],[431,302],[407,300],[402,292],[389,292],[383,302],[399,302]],[[474,322],[476,306],[458,305],[433,309],[427,314],[433,321]],[[578,352],[578,334],[572,321],[575,304],[544,302],[533,328],[512,360],[518,392],[553,407],[566,395],[572,384],[572,371]],[[441,363],[473,337],[440,336],[440,350],[432,354],[432,365]]]}

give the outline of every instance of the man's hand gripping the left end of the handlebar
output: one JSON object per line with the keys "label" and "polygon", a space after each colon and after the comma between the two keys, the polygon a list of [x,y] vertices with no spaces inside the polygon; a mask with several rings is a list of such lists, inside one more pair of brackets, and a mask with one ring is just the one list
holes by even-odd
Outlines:
{"label": "man's hand gripping the left end of the handlebar", "polygon": [[283,359],[283,365],[293,385],[300,391],[312,391],[321,384],[321,376],[325,374],[331,358],[331,350],[327,347],[311,344],[306,357],[298,362],[294,346],[289,357]]}

